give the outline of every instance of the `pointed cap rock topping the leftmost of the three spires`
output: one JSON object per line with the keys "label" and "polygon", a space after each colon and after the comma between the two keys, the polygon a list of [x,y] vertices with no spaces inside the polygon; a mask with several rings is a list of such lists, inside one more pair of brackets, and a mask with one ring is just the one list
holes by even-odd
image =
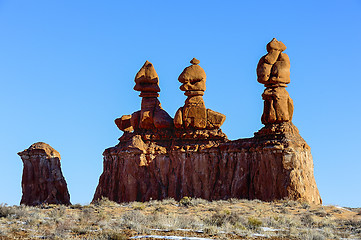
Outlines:
{"label": "pointed cap rock topping the leftmost of the three spires", "polygon": [[158,85],[158,74],[155,71],[153,64],[146,61],[143,67],[135,76],[134,90],[142,92],[160,92]]}

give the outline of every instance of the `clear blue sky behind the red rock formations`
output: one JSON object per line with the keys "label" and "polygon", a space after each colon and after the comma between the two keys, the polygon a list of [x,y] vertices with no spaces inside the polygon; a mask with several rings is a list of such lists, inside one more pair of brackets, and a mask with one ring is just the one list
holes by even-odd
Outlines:
{"label": "clear blue sky behind the red rock formations", "polygon": [[0,0],[0,202],[19,204],[17,152],[43,141],[62,156],[73,203],[89,203],[114,119],[140,109],[146,60],[174,116],[177,81],[196,57],[206,107],[230,139],[262,127],[256,66],[276,37],[288,47],[294,124],[311,146],[325,204],[361,207],[361,2]]}

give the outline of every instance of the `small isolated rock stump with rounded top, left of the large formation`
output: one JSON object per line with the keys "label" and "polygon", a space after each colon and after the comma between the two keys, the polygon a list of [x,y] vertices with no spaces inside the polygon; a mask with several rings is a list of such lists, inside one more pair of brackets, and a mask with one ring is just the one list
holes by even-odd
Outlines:
{"label": "small isolated rock stump with rounded top, left of the large formation", "polygon": [[60,154],[54,148],[38,142],[18,155],[24,163],[20,204],[70,204],[67,184],[61,172]]}

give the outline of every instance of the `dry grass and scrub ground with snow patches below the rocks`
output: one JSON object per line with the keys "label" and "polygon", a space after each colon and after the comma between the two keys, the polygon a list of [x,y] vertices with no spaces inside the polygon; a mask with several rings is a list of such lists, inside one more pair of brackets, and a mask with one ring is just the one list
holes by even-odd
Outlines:
{"label": "dry grass and scrub ground with snow patches below the rocks", "polygon": [[[69,207],[0,205],[0,239],[129,239],[138,235],[211,239],[361,239],[360,209],[296,201],[209,202],[184,198]],[[149,238],[148,238],[149,239]]]}

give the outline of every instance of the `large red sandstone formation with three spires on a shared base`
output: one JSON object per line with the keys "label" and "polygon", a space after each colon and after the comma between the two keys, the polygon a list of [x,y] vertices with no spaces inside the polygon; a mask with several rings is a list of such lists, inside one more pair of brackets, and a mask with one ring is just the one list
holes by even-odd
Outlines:
{"label": "large red sandstone formation with three spires on a shared base", "polygon": [[[188,196],[289,198],[320,204],[310,147],[292,124],[293,103],[285,90],[290,82],[285,49],[282,42],[272,40],[257,66],[258,81],[266,86],[262,95],[265,127],[253,138],[235,141],[229,141],[220,129],[225,116],[205,107],[206,74],[197,59],[178,78],[187,99],[174,120],[158,104],[158,76],[146,62],[134,88],[142,92],[141,110],[116,120],[124,133],[118,145],[103,153],[104,169],[93,201]],[[146,83],[145,87],[139,83]],[[152,103],[145,106],[144,99]]]}

